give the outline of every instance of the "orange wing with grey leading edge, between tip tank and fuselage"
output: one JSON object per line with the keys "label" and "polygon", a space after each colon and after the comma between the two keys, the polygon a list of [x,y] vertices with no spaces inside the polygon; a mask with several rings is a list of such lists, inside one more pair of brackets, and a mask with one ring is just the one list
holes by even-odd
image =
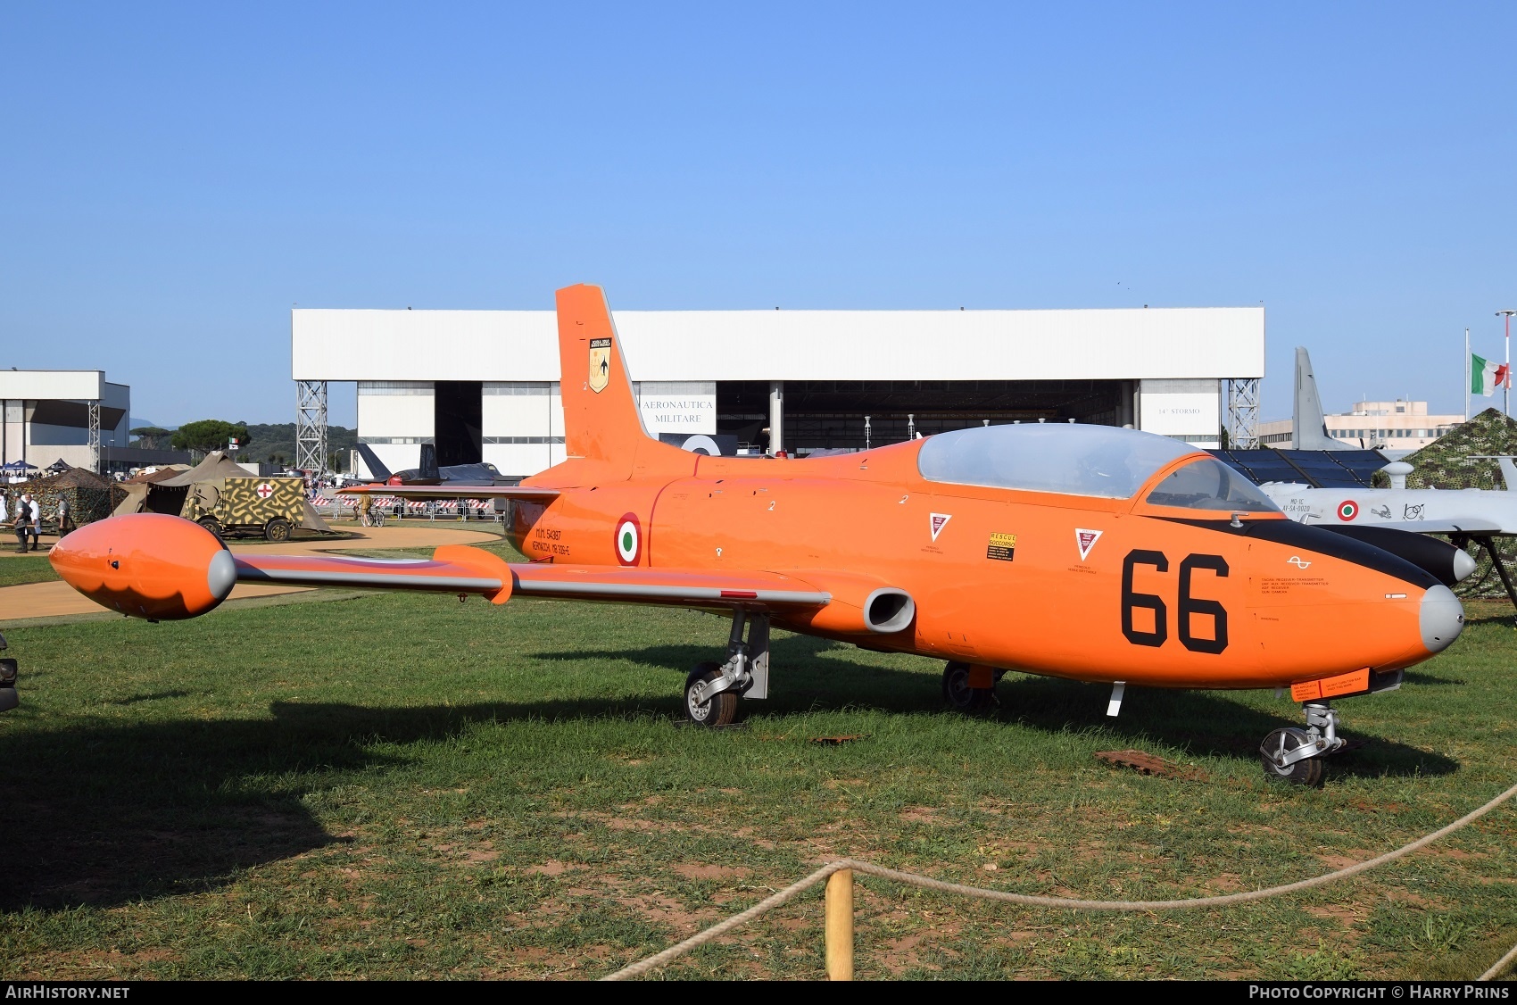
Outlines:
{"label": "orange wing with grey leading edge, between tip tank and fuselage", "polygon": [[235,563],[237,578],[250,583],[482,594],[496,604],[511,595],[774,610],[831,603],[831,594],[778,572],[508,563],[469,545],[444,545],[431,559],[238,554]]}

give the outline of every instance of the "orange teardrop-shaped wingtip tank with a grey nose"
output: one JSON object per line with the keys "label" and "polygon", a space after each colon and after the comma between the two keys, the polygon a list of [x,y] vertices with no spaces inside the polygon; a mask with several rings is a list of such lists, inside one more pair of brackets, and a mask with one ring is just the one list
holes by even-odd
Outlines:
{"label": "orange teardrop-shaped wingtip tank with a grey nose", "polygon": [[162,513],[86,524],[47,557],[90,600],[149,621],[203,615],[237,584],[237,563],[215,534]]}

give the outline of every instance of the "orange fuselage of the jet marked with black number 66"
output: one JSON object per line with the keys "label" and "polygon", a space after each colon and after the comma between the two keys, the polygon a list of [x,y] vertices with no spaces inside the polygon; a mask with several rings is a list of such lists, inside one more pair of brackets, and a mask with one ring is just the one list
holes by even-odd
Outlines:
{"label": "orange fuselage of the jet marked with black number 66", "polygon": [[[775,624],[1077,680],[1264,688],[1431,656],[1418,621],[1427,584],[1336,554],[1341,540],[1326,531],[1271,539],[1289,525],[1279,513],[1233,521],[1147,506],[1145,492],[1106,499],[928,481],[916,469],[919,449],[915,442],[768,462],[690,455],[687,474],[599,484],[593,465],[570,460],[526,481],[561,495],[514,504],[511,536],[539,562],[762,569],[799,580],[848,569],[866,584],[909,592],[913,625],[886,635],[839,629],[836,607],[848,597],[816,615],[777,615]],[[616,540],[625,519],[640,533],[630,562]],[[813,584],[836,594],[828,575],[836,578],[818,572]]]}

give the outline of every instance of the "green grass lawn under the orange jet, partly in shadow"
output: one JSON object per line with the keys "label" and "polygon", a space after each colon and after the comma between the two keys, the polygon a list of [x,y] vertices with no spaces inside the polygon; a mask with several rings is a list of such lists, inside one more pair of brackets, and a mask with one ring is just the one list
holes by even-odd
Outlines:
{"label": "green grass lawn under the orange jet, partly in shadow", "polygon": [[[1270,692],[1129,689],[1113,721],[1103,688],[1009,676],[965,718],[938,663],[798,636],[745,726],[687,727],[725,627],[678,610],[346,595],[8,629],[0,976],[601,976],[836,855],[1089,897],[1302,879],[1517,782],[1517,633],[1488,612],[1402,691],[1340,703],[1370,745],[1320,791],[1264,780],[1259,739],[1299,723]],[[1208,780],[1094,758],[1126,747]],[[865,877],[857,972],[1465,979],[1517,941],[1514,820],[1226,911]],[[660,976],[816,978],[821,952],[809,894]]]}

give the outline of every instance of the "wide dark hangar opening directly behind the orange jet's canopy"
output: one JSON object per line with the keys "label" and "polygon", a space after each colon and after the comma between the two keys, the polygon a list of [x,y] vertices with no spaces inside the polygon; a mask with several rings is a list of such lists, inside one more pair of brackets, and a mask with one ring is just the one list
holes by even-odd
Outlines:
{"label": "wide dark hangar opening directly behind the orange jet's canopy", "polygon": [[[863,449],[971,425],[1133,421],[1136,381],[784,381],[784,448]],[[768,446],[768,381],[716,384],[716,431]]]}

